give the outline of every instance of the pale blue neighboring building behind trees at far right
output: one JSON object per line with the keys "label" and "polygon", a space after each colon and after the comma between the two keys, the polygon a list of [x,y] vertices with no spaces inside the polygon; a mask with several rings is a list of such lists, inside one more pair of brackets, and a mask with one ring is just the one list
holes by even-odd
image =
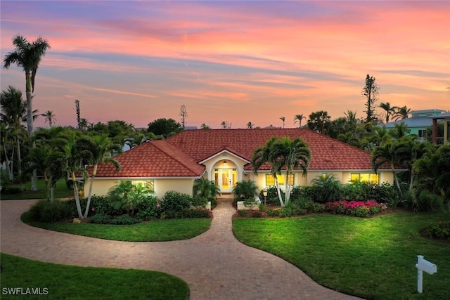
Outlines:
{"label": "pale blue neighboring building behind trees at far right", "polygon": [[[411,134],[415,134],[418,136],[418,141],[425,141],[425,133],[427,129],[430,129],[432,125],[432,119],[430,117],[432,116],[439,116],[442,114],[442,112],[445,112],[445,110],[413,110],[411,112],[411,117],[406,119],[399,119],[394,122],[389,122],[384,124],[386,126],[386,129],[394,129],[396,124],[400,124],[401,122],[404,122],[406,126],[408,126],[408,129],[411,130]],[[383,126],[383,124],[380,124],[380,126]]]}

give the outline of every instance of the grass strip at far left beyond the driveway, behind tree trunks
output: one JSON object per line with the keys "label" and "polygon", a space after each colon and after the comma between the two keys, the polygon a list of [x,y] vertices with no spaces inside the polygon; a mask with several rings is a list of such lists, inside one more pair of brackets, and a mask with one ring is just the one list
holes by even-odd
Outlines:
{"label": "grass strip at far left beyond the driveway, behind tree trunks", "polygon": [[[1,193],[1,200],[27,200],[27,199],[45,199],[47,197],[47,193],[45,190],[45,181],[43,179],[39,179],[37,181],[37,191],[31,190],[31,182],[23,183],[20,188],[23,189],[22,193],[17,194],[5,194]],[[68,198],[73,197],[72,190],[69,190],[65,185],[64,180],[60,180],[56,183],[55,198]]]}

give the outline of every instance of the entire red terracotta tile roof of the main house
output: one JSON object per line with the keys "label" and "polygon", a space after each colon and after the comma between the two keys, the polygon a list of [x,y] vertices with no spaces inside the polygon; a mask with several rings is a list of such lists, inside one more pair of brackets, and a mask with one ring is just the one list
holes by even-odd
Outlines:
{"label": "entire red terracotta tile roof of the main house", "polygon": [[[98,177],[197,177],[205,167],[199,162],[222,150],[251,161],[253,151],[269,138],[302,138],[311,150],[309,170],[371,170],[371,154],[309,129],[198,129],[186,130],[161,141],[149,141],[128,150],[113,165],[98,167]],[[269,169],[265,164],[261,169]],[[245,169],[251,170],[247,164]],[[389,169],[383,166],[380,169]]]}

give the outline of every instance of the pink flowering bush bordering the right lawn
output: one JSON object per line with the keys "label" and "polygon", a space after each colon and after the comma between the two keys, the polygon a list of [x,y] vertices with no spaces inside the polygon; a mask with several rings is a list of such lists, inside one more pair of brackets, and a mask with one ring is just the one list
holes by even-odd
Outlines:
{"label": "pink flowering bush bordering the right lawn", "polygon": [[383,210],[383,204],[379,204],[375,200],[367,201],[347,201],[340,200],[328,202],[325,204],[325,211],[332,214],[348,214],[350,216],[371,216],[378,214]]}

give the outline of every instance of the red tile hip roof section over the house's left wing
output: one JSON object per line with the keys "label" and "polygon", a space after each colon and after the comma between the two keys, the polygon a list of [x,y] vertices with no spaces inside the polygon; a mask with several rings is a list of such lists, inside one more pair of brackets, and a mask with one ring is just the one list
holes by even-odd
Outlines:
{"label": "red tile hip roof section over the house's left wing", "polygon": [[199,177],[205,170],[165,140],[143,143],[114,158],[120,171],[115,171],[113,164],[99,164],[96,177]]}

